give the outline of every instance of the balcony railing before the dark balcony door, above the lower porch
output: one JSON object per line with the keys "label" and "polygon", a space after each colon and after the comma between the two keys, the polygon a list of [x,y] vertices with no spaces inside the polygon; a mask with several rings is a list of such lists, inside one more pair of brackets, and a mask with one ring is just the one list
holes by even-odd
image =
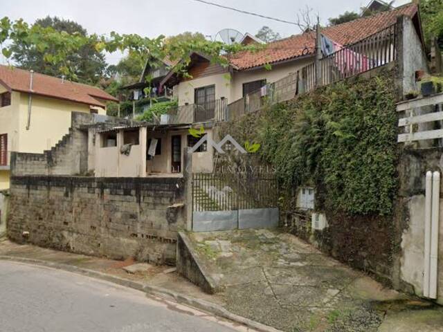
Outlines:
{"label": "balcony railing before the dark balcony door, above the lower porch", "polygon": [[173,107],[161,116],[160,124],[192,124],[226,120],[227,99],[213,100],[202,104]]}

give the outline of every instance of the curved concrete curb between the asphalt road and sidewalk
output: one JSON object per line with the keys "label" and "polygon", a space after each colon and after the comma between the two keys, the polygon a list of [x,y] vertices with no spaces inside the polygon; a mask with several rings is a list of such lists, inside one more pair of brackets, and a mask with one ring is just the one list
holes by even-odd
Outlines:
{"label": "curved concrete curb between the asphalt road and sidewalk", "polygon": [[282,331],[275,329],[271,326],[267,326],[262,323],[255,322],[253,320],[249,320],[248,318],[236,315],[235,313],[231,313],[230,311],[226,310],[222,306],[219,306],[218,304],[204,301],[202,299],[197,299],[195,297],[190,297],[188,295],[183,295],[181,293],[176,293],[176,292],[170,291],[166,288],[161,288],[161,287],[157,287],[157,286],[150,286],[147,284],[143,284],[141,282],[134,282],[132,280],[115,277],[114,275],[108,275],[107,273],[101,273],[98,271],[89,270],[87,268],[79,268],[78,266],[73,266],[73,265],[69,265],[69,264],[54,263],[52,261],[42,261],[39,259],[12,257],[12,256],[4,256],[4,255],[1,255],[0,259],[3,261],[15,261],[18,263],[26,263],[26,264],[33,264],[33,265],[37,265],[37,266],[45,266],[48,268],[55,268],[57,270],[64,270],[64,271],[68,271],[71,273],[86,275],[87,277],[93,277],[96,279],[105,280],[107,282],[112,282],[112,283],[118,284],[120,286],[125,286],[125,287],[136,289],[138,291],[143,291],[147,295],[161,297],[163,299],[172,299],[179,304],[186,304],[187,306],[197,308],[201,311],[206,311],[207,313],[211,313],[213,315],[217,315],[219,317],[226,318],[226,319],[231,320],[233,322],[237,322],[237,323],[242,324],[244,326],[248,326],[251,329],[255,329],[256,331],[282,332]]}

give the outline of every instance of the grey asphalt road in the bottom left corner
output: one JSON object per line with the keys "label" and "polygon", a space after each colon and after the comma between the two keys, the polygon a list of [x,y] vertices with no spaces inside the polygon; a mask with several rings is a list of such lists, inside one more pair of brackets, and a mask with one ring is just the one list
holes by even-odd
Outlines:
{"label": "grey asphalt road in the bottom left corner", "polygon": [[144,293],[51,268],[0,261],[0,331],[250,331]]}

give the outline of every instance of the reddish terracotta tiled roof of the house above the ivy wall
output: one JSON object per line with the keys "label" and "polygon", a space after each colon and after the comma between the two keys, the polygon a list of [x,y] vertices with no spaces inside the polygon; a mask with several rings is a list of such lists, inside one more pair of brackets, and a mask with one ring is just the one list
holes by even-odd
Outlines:
{"label": "reddish terracotta tiled roof of the house above the ivy wall", "polygon": [[[353,44],[365,37],[377,33],[383,28],[395,24],[397,17],[406,15],[413,17],[417,13],[417,5],[410,3],[405,6],[380,12],[370,17],[362,17],[336,26],[324,28],[321,33],[342,45]],[[237,70],[246,70],[264,64],[273,64],[289,59],[295,59],[303,55],[314,55],[315,53],[315,32],[293,35],[269,43],[263,50],[252,52],[240,52],[233,55],[230,63]]]}

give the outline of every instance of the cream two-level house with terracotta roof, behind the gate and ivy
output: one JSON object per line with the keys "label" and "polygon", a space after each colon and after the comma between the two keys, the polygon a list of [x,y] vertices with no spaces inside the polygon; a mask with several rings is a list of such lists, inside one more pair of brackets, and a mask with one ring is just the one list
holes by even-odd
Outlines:
{"label": "cream two-level house with terracotta roof, behind the gate and ivy", "polygon": [[[188,67],[192,78],[177,75],[171,66],[163,66],[162,73],[155,77],[156,86],[158,91],[172,89],[179,106],[172,107],[156,124],[93,133],[95,138],[90,142],[95,142],[95,146],[89,149],[95,151],[96,162],[90,163],[90,168],[96,176],[181,174],[183,148],[193,147],[197,142],[188,133],[190,127],[203,125],[208,137],[217,141],[217,122],[251,111],[251,105],[259,109],[262,97],[269,97],[270,91],[277,95],[284,90],[284,98],[289,100],[314,85],[329,84],[394,62],[395,25],[403,15],[411,22],[410,38],[420,45],[422,30],[415,4],[321,30],[321,35],[332,40],[338,50],[327,54],[327,50],[318,48],[322,54],[317,79],[314,32],[272,42],[256,53],[233,55],[226,68],[211,63],[206,55],[193,53]],[[249,37],[248,42],[254,39]],[[270,70],[266,68],[268,65]],[[143,75],[146,73],[145,68]],[[404,81],[405,89],[415,84],[413,73],[405,74]],[[121,153],[124,145],[131,145],[127,155]],[[201,146],[192,154],[192,171],[212,172],[214,156],[212,148]]]}

